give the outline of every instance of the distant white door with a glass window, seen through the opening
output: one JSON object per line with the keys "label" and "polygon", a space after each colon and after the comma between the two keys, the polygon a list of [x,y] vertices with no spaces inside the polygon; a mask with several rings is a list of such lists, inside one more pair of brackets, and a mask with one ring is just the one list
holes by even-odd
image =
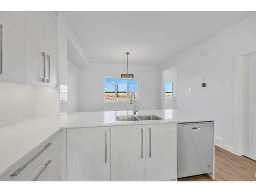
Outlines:
{"label": "distant white door with a glass window, seen through the opening", "polygon": [[163,91],[163,109],[176,109],[176,79],[165,79]]}

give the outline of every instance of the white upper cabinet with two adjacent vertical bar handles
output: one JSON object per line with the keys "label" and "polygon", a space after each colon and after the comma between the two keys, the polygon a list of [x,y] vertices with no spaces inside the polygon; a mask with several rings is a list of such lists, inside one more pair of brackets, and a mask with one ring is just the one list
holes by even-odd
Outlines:
{"label": "white upper cabinet with two adjacent vertical bar handles", "polygon": [[25,83],[55,87],[57,26],[46,12],[25,14]]}

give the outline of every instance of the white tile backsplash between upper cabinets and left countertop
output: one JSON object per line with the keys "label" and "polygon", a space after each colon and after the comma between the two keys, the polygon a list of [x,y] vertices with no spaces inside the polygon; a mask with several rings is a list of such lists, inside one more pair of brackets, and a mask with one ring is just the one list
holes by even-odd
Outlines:
{"label": "white tile backsplash between upper cabinets and left countertop", "polygon": [[0,127],[32,117],[58,114],[57,89],[0,82]]}

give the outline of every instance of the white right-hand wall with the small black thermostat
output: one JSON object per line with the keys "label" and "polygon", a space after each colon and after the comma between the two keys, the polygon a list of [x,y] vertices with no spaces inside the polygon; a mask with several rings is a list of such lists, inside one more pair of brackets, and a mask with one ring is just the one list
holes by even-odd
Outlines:
{"label": "white right-hand wall with the small black thermostat", "polygon": [[[233,139],[234,126],[237,126],[233,117],[233,86],[236,87],[233,83],[233,59],[236,54],[256,51],[255,23],[256,15],[252,15],[159,66],[160,81],[163,70],[177,66],[177,109],[215,119],[215,142],[234,153],[238,151],[235,147],[238,140]],[[210,53],[200,56],[200,52],[208,48]],[[206,88],[201,87],[203,78],[208,84]],[[161,105],[162,98],[159,98],[159,107]]]}

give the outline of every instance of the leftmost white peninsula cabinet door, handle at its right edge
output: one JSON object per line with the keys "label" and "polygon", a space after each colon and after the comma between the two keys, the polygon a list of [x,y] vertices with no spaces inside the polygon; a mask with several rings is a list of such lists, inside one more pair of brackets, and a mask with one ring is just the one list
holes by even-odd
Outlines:
{"label": "leftmost white peninsula cabinet door, handle at its right edge", "polygon": [[110,181],[110,127],[67,130],[67,181]]}

